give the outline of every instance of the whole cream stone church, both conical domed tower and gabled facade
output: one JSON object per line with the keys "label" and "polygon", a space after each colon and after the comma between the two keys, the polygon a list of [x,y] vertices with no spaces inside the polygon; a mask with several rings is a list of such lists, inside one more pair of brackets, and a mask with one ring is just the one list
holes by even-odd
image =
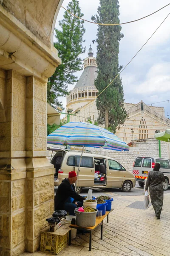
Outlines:
{"label": "whole cream stone church, both conical domed tower and gabled facade", "polygon": [[[99,111],[96,108],[98,90],[94,86],[96,77],[96,58],[90,47],[88,57],[84,60],[84,71],[67,96],[66,111],[71,108],[74,114],[77,108],[80,110],[75,116],[70,116],[70,121],[87,122],[91,119],[95,123],[98,120]],[[116,135],[126,143],[132,140],[154,138],[156,130],[164,131],[170,128],[170,119],[165,117],[164,108],[148,106],[142,101],[137,104],[124,103],[124,107],[127,119],[117,128]]]}

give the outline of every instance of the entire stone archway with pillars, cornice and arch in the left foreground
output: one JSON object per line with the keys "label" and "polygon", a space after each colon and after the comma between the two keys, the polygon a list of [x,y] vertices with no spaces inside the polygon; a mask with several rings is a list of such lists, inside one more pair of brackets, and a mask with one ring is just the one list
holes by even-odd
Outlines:
{"label": "entire stone archway with pillars, cornice and arch in the left foreground", "polygon": [[62,2],[0,1],[0,255],[37,250],[54,211],[46,83],[61,64],[53,32]]}

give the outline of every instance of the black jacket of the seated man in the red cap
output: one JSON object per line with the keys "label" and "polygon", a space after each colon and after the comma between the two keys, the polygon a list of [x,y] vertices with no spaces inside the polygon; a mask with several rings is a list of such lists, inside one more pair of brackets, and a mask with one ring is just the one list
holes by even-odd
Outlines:
{"label": "black jacket of the seated man in the red cap", "polygon": [[68,179],[65,178],[64,180],[62,180],[62,183],[59,185],[57,189],[57,193],[54,200],[55,211],[64,209],[64,203],[68,199],[68,197],[72,197],[75,201],[80,202],[83,202],[83,200],[85,200],[85,198],[83,198],[81,195],[78,195],[75,192],[74,184],[72,184],[71,186]]}

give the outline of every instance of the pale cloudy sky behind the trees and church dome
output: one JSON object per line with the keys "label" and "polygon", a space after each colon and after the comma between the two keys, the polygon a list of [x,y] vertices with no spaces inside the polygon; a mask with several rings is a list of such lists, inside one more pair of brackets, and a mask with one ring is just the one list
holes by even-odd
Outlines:
{"label": "pale cloudy sky behind the trees and church dome", "polygon": [[[66,8],[68,2],[69,0],[64,0],[62,6]],[[120,23],[149,15],[168,3],[169,0],[119,0]],[[91,16],[97,12],[99,0],[79,0],[79,5],[84,18],[91,20]],[[143,20],[122,25],[121,32],[124,34],[124,38],[120,41],[119,46],[119,65],[126,66],[169,13],[170,6],[167,6]],[[62,20],[63,14],[64,9],[61,8],[56,21],[58,29],[58,22]],[[125,102],[138,103],[141,100],[146,104],[161,102],[153,104],[153,106],[164,107],[166,117],[168,112],[170,117],[170,101],[167,102],[167,100],[170,100],[169,24],[170,15],[129,66],[121,73]],[[88,50],[92,40],[96,39],[97,25],[85,22],[84,27],[86,32],[83,45]],[[96,56],[96,44],[92,44],[92,48],[94,56]],[[87,52],[81,55],[82,59],[87,56]],[[81,74],[82,71],[76,73],[78,78]],[[68,90],[72,90],[74,85],[68,85]],[[60,97],[60,100],[65,107],[66,98]]]}

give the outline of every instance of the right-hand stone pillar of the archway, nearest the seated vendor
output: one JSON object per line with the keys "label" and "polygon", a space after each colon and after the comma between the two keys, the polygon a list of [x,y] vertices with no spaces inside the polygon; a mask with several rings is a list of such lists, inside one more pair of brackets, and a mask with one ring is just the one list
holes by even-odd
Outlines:
{"label": "right-hand stone pillar of the archway, nearest the seated vendor", "polygon": [[47,156],[47,87],[34,76],[26,90],[26,250],[40,245],[40,231],[54,212],[54,166]]}

